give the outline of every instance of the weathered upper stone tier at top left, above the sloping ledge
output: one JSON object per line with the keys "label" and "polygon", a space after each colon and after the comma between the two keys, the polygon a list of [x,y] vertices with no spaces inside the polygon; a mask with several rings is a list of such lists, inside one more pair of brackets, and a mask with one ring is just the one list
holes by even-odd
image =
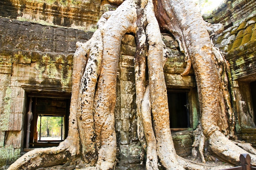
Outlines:
{"label": "weathered upper stone tier at top left, above the sloping ledge", "polygon": [[[91,2],[91,1],[90,1]],[[41,24],[90,30],[97,23],[100,1],[32,1],[0,2],[0,15]]]}

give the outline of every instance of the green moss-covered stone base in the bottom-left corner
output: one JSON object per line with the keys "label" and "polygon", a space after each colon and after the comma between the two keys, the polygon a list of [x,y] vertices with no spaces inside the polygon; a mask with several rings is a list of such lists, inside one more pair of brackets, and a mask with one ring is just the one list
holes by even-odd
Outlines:
{"label": "green moss-covered stone base in the bottom-left corner", "polygon": [[20,157],[20,148],[13,148],[12,146],[0,148],[0,167],[10,165]]}

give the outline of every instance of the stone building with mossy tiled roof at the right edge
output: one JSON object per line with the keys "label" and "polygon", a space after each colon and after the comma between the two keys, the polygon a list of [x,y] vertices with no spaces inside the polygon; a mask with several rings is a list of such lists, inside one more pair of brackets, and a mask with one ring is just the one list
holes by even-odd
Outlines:
{"label": "stone building with mossy tiled roof at the right edge", "polygon": [[224,52],[233,79],[237,114],[236,132],[240,140],[256,146],[256,1],[225,1],[213,11],[213,22],[225,31],[213,38]]}

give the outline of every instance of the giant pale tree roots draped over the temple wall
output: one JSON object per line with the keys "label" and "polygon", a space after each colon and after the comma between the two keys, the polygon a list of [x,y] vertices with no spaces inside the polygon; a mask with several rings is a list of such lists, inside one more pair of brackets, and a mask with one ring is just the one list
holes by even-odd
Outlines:
{"label": "giant pale tree roots draped over the temple wall", "polygon": [[[87,169],[115,167],[117,65],[125,33],[134,33],[136,37],[137,131],[146,150],[146,169],[158,170],[159,163],[168,170],[225,168],[191,162],[175,152],[163,72],[168,50],[160,29],[175,36],[186,56],[187,67],[182,75],[189,73],[191,65],[195,71],[202,128],[198,132],[198,144],[193,146],[200,148],[203,162],[202,148],[204,140],[208,140],[215,155],[238,163],[240,153],[248,152],[239,147],[245,145],[230,140],[235,139],[235,135],[229,69],[223,64],[225,59],[213,48],[207,26],[195,5],[189,0],[116,0],[113,3],[122,4],[116,11],[102,15],[97,31],[88,42],[77,43],[67,139],[58,147],[27,152],[9,170],[34,170],[77,159],[81,159]],[[246,147],[252,152],[250,156],[255,165],[255,150]]]}

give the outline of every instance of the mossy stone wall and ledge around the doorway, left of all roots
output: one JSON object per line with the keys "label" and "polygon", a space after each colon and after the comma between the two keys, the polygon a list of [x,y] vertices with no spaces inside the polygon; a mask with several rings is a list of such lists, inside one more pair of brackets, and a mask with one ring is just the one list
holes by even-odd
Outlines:
{"label": "mossy stone wall and ledge around the doorway, left of all roots", "polygon": [[75,43],[91,36],[0,18],[0,165],[23,148],[27,93],[70,96]]}

